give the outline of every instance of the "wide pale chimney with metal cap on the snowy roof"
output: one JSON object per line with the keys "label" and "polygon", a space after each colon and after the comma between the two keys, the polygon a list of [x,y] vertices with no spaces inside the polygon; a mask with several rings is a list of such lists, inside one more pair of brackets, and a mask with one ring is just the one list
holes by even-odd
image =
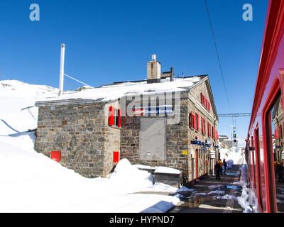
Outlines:
{"label": "wide pale chimney with metal cap on the snowy roof", "polygon": [[152,60],[147,62],[147,84],[160,83],[160,62],[152,55]]}

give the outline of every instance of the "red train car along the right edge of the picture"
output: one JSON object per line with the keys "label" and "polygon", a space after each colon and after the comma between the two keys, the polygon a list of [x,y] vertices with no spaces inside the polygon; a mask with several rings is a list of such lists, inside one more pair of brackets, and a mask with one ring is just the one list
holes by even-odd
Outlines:
{"label": "red train car along the right edge of the picture", "polygon": [[249,187],[266,213],[284,211],[283,33],[284,1],[269,0],[245,153]]}

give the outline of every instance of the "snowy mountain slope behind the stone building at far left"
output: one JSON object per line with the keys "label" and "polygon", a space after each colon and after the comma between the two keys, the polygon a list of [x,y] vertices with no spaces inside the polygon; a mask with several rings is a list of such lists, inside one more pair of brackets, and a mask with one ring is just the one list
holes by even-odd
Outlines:
{"label": "snowy mountain slope behind the stone building at far left", "polygon": [[0,135],[23,132],[37,127],[38,108],[35,101],[57,96],[58,89],[46,85],[27,84],[18,80],[0,81]]}

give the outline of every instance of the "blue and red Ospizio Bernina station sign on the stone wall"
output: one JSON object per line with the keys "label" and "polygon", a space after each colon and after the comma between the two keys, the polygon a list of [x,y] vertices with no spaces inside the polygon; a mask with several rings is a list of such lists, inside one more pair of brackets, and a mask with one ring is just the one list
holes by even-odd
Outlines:
{"label": "blue and red Ospizio Bernina station sign on the stone wall", "polygon": [[143,116],[143,115],[155,115],[155,114],[173,114],[173,106],[147,106],[147,107],[138,107],[134,108],[134,116]]}

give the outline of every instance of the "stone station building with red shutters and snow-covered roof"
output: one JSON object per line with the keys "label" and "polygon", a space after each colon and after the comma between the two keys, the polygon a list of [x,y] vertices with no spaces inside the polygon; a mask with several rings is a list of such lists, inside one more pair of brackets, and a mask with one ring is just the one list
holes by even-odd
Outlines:
{"label": "stone station building with red shutters and snow-covered roof", "polygon": [[[115,82],[38,101],[35,150],[84,177],[106,177],[116,155],[132,164],[172,167],[188,182],[212,172],[218,117],[207,75],[173,77],[160,62],[147,79]],[[115,154],[115,155],[114,155]]]}

